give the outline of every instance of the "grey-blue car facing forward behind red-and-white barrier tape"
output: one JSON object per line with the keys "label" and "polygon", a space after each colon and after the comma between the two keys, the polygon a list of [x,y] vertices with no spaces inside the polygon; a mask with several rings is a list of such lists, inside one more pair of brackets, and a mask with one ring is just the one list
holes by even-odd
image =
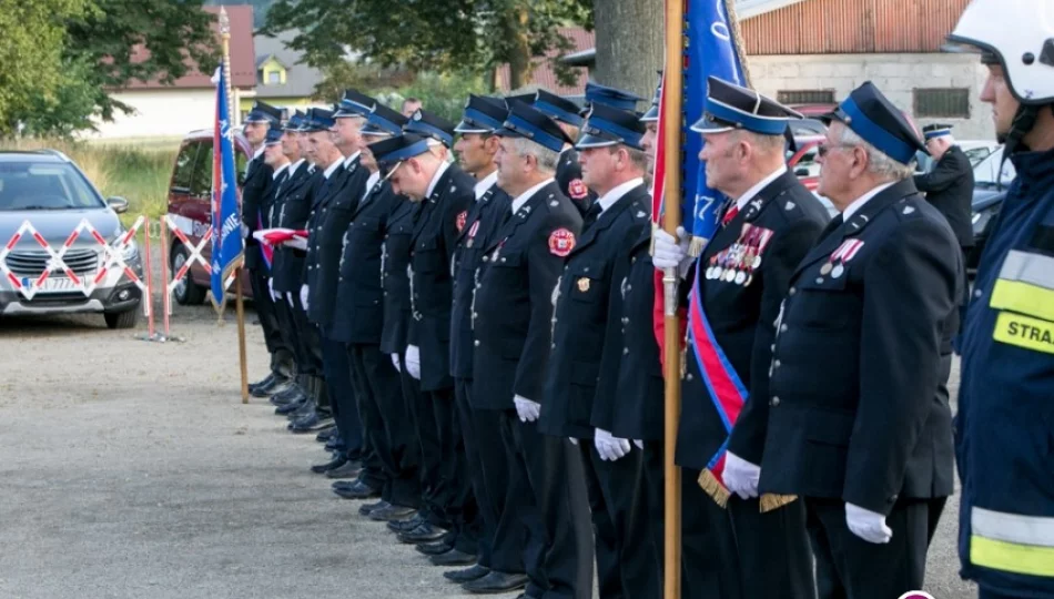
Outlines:
{"label": "grey-blue car facing forward behind red-and-white barrier tape", "polygon": [[[40,240],[59,251],[84,220],[112,244],[125,233],[118,214],[128,206],[123,197],[103,199],[61,152],[0,152],[0,243],[4,245],[28,221]],[[142,278],[135,242],[121,247],[120,257]],[[85,295],[74,278],[54,270],[27,300],[17,284],[30,287],[49,265],[57,265],[33,235],[22,235],[3,258],[9,273],[0,277],[0,315],[97,313],[110,328],[135,326],[142,294],[123,268],[104,264],[110,262],[105,256],[105,248],[82,230],[62,262],[82,281],[92,282],[103,266],[107,275]]]}

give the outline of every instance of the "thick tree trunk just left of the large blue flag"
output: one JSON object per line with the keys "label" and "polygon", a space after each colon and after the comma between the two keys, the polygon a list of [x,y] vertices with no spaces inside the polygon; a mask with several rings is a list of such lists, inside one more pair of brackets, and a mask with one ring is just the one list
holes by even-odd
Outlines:
{"label": "thick tree trunk just left of the large blue flag", "polygon": [[[631,91],[651,102],[662,68],[663,10],[658,0],[594,0],[597,64],[590,77],[601,85]],[[645,104],[638,105],[643,110]]]}

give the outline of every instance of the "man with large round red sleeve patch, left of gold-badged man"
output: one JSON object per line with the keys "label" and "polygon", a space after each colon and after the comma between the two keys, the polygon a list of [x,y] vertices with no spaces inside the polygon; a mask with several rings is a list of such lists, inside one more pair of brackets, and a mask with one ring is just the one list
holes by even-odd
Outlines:
{"label": "man with large round red sleeve patch, left of gold-badged man", "polygon": [[[543,435],[537,423],[551,349],[553,294],[581,230],[581,216],[554,179],[569,140],[555,121],[515,101],[496,134],[501,136],[498,185],[513,202],[484,245],[477,275],[473,396],[480,408],[501,410],[506,510],[527,529],[525,597],[587,599],[592,537],[581,459],[566,437]],[[464,587],[497,592],[501,578],[490,572]]]}

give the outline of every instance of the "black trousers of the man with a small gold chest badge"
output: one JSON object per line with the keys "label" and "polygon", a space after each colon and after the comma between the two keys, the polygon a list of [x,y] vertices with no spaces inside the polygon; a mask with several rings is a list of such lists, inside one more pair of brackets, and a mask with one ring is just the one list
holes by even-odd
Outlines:
{"label": "black trousers of the man with a small gold chest badge", "polygon": [[[662,562],[656,554],[651,531],[652,514],[647,501],[643,480],[643,455],[634,446],[630,453],[615,461],[600,459],[590,439],[582,439],[582,464],[589,488],[590,508],[602,509],[604,517],[594,512],[597,577],[600,597],[622,599],[659,599],[662,596]],[[596,480],[590,481],[592,469]],[[595,498],[594,493],[601,497]],[[601,537],[601,522],[609,532]],[[601,555],[608,556],[601,560]],[[607,566],[605,566],[607,562]],[[602,568],[611,570],[604,572]],[[610,591],[606,593],[605,587]]]}

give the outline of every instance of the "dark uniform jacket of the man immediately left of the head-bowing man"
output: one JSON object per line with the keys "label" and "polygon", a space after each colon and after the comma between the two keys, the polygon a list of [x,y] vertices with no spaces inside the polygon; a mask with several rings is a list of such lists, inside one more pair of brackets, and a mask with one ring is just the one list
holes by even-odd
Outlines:
{"label": "dark uniform jacket of the man immediately left of the head-bowing man", "polygon": [[[409,200],[378,180],[358,203],[344,233],[341,275],[330,337],[356,344],[381,344],[384,327],[382,246],[392,215]],[[404,275],[405,276],[405,275]]]}

